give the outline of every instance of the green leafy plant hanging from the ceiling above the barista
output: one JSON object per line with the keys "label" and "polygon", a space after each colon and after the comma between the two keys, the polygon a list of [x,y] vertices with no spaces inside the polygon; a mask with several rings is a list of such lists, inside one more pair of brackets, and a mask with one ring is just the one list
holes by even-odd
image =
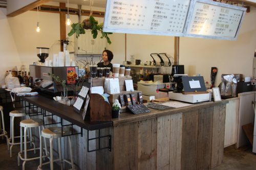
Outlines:
{"label": "green leafy plant hanging from the ceiling above the barista", "polygon": [[86,33],[85,30],[90,29],[94,39],[97,37],[98,31],[100,31],[101,32],[100,38],[106,38],[106,41],[108,41],[108,43],[111,44],[111,41],[108,35],[113,33],[103,32],[103,23],[99,24],[98,21],[93,16],[90,16],[88,19],[84,19],[81,23],[73,23],[71,27],[72,29],[68,33],[68,36],[72,36],[73,34],[76,33],[76,38],[78,38],[80,34]]}

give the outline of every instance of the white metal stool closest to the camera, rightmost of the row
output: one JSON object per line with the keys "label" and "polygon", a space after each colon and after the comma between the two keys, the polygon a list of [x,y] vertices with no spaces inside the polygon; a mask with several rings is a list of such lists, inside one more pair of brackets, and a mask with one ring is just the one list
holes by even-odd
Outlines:
{"label": "white metal stool closest to the camera, rightmost of the row", "polygon": [[[60,168],[62,170],[62,162],[65,161],[69,164],[71,164],[71,169],[74,169],[74,161],[73,161],[73,151],[71,148],[71,139],[70,136],[68,136],[69,139],[69,151],[70,151],[70,159],[71,162],[66,160],[66,159],[62,159],[61,158],[61,136],[62,134],[70,134],[70,130],[67,128],[63,128],[62,133],[61,133],[61,127],[51,127],[51,128],[46,128],[44,130],[42,130],[41,136],[40,136],[40,141],[42,141],[42,137],[44,138],[49,138],[50,139],[50,161],[49,162],[45,162],[42,163],[42,143],[40,142],[40,165],[37,167],[37,169],[41,170],[42,165],[46,165],[50,163],[50,167],[51,170],[53,170],[53,162],[55,161],[59,161],[60,163]],[[58,155],[59,155],[59,159],[55,159],[53,160],[53,139],[58,139]]]}

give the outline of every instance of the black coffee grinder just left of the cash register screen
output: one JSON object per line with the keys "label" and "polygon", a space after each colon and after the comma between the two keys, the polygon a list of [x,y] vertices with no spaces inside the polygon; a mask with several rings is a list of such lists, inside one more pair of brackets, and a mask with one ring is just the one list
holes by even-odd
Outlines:
{"label": "black coffee grinder just left of the cash register screen", "polygon": [[172,79],[170,87],[173,92],[182,92],[183,90],[182,76],[179,75],[184,75],[184,65],[173,65],[172,74],[170,74]]}

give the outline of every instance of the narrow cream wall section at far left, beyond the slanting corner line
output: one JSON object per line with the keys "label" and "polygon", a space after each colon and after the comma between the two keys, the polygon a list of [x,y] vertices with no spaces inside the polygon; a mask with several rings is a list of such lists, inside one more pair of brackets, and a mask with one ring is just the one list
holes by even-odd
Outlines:
{"label": "narrow cream wall section at far left, beyond the slanting corner line", "polygon": [[0,83],[5,83],[5,71],[20,67],[20,58],[6,17],[6,8],[0,8]]}

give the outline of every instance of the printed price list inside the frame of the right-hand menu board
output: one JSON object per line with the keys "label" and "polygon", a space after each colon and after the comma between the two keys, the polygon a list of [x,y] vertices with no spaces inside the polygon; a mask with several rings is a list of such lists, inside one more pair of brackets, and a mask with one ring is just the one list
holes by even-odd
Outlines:
{"label": "printed price list inside the frame of the right-hand menu board", "polygon": [[242,10],[197,2],[187,34],[236,37]]}

